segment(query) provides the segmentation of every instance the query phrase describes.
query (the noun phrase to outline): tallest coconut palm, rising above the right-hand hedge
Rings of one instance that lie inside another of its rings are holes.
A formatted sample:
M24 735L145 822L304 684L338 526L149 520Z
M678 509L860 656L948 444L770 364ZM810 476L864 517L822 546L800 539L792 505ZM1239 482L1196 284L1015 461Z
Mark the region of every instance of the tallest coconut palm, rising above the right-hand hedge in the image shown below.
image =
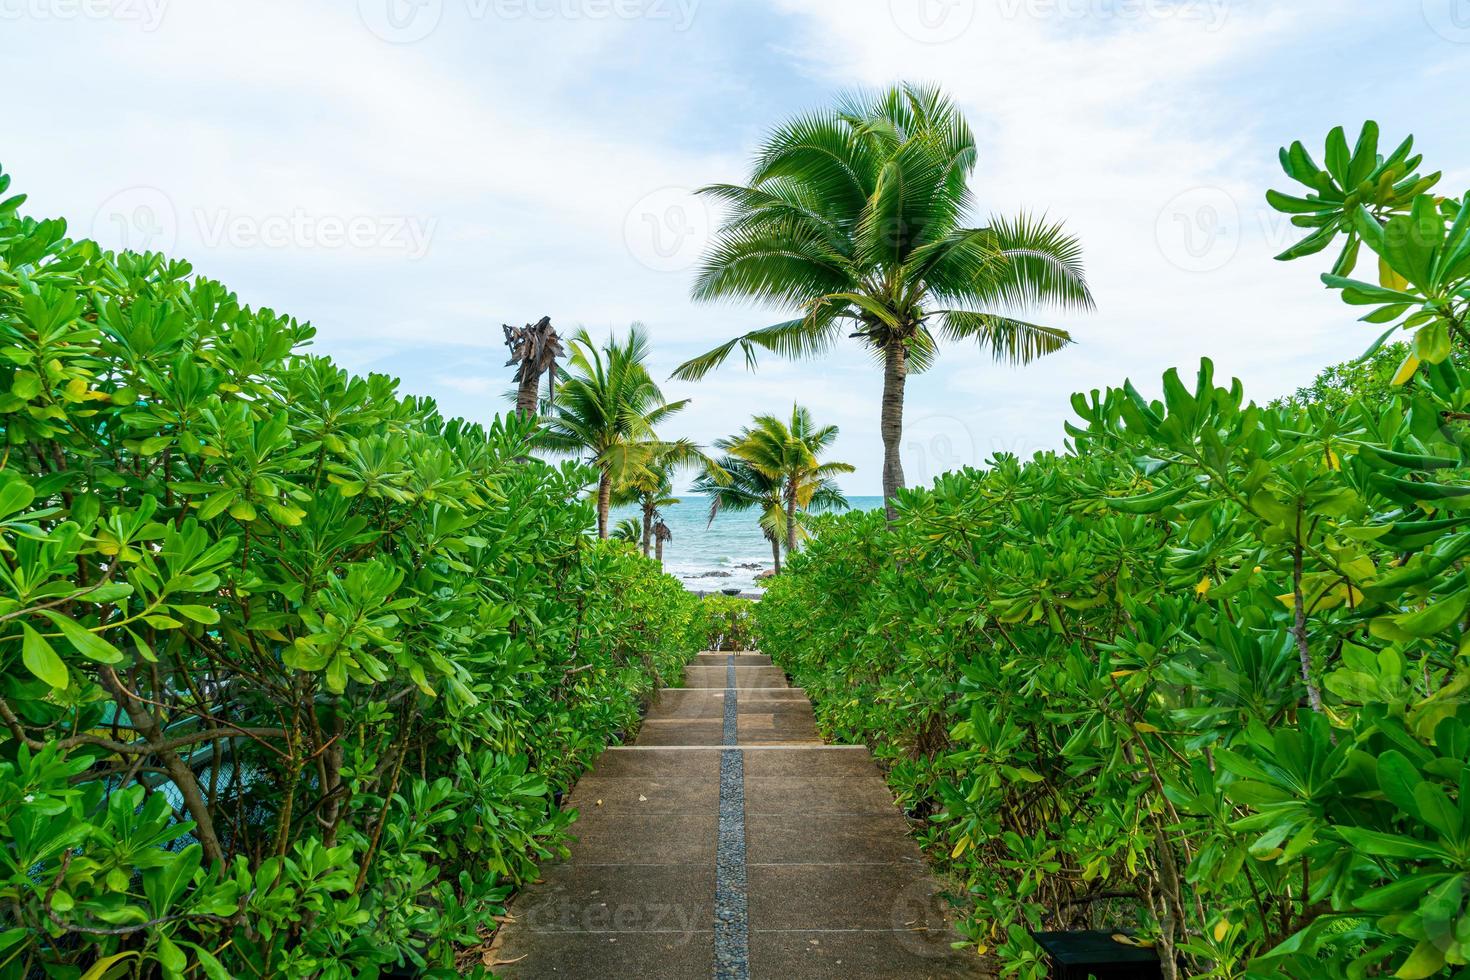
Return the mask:
M701 192L728 206L694 285L800 311L681 364L698 379L736 348L786 357L831 351L844 334L883 364L883 497L904 485L904 386L939 339L973 341L1023 364L1072 342L1026 309L1089 309L1080 247L1060 225L1022 215L972 225L975 137L936 88L901 85L797 118L761 145L747 184Z

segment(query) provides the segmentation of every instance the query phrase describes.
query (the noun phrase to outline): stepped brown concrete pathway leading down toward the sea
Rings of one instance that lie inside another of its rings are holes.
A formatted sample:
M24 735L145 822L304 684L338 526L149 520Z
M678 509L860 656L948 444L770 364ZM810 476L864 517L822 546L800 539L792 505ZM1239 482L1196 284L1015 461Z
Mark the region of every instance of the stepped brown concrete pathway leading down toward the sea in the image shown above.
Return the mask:
M760 654L700 654L567 799L495 948L504 977L975 977L863 746L823 745Z

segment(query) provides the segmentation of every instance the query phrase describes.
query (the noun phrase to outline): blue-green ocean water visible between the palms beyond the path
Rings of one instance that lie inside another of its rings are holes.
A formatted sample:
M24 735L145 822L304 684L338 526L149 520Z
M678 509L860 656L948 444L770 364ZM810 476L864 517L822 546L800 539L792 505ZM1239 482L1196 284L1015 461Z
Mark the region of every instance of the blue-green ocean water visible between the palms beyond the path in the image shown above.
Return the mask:
M882 497L848 497L853 510L883 505ZM637 507L614 507L613 525L637 517ZM694 592L720 589L759 591L756 576L775 567L770 542L761 535L756 511L720 511L713 525L706 497L681 495L679 502L663 508L663 520L673 541L663 545L663 567Z

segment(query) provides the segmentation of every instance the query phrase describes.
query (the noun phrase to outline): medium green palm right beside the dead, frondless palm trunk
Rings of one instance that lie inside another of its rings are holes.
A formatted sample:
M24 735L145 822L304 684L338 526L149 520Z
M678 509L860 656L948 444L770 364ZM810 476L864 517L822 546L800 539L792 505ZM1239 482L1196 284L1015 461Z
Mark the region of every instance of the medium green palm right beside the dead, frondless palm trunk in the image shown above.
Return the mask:
M541 445L585 453L597 467L597 536L607 536L613 488L629 480L669 444L656 426L689 401L667 401L648 373L648 335L634 323L628 336L598 345L584 329L570 341L560 372L556 406L541 430Z

